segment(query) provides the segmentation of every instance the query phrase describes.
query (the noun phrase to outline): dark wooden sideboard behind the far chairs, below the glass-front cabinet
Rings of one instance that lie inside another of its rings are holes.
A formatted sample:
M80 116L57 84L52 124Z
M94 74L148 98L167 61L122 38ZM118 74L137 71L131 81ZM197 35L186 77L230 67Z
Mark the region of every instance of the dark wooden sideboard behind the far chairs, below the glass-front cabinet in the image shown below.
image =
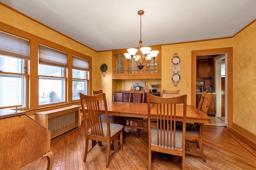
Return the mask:
M147 102L147 94L152 94L154 96L160 96L160 92L156 92L156 93L145 93L144 96L144 103ZM129 102L129 97L130 97L130 91L119 91L119 92L114 92L114 97L113 100L114 102ZM133 101L133 96L131 96L131 102ZM141 102L142 102L142 98L141 98Z

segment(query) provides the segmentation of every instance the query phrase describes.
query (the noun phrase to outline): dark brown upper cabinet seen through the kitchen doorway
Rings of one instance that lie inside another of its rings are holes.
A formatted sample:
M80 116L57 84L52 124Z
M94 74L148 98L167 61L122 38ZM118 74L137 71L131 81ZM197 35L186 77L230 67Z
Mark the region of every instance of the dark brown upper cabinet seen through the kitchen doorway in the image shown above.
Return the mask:
M212 59L200 59L197 60L197 77L199 78L212 78Z

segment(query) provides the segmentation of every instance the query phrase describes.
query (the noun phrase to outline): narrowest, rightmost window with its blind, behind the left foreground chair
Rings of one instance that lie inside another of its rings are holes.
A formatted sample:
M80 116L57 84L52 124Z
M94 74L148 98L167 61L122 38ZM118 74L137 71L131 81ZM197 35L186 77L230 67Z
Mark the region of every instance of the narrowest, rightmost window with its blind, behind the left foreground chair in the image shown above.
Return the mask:
M79 93L88 94L89 61L72 56L72 100L79 100Z

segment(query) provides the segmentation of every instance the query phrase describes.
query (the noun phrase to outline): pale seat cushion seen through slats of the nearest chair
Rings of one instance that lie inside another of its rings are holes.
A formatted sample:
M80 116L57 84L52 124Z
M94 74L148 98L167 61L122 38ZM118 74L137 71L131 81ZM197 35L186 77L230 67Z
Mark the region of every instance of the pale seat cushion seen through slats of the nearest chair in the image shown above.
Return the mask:
M162 131L163 134L164 131ZM158 131L160 137L160 131ZM167 130L165 130L165 136L167 137ZM170 130L168 131L170 138ZM182 149L182 131L176 131L175 133L175 147ZM157 129L151 128L151 143L157 145ZM159 139L160 144L160 139ZM165 139L165 145L167 144L167 139ZM162 140L162 145L164 145L164 141ZM170 139L168 140L168 147L170 147ZM173 147L173 131L172 131L172 147Z

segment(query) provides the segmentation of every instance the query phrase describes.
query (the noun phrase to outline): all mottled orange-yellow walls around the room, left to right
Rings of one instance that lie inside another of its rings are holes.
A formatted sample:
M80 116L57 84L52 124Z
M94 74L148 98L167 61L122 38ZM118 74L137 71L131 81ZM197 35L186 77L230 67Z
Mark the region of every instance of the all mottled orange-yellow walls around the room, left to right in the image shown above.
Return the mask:
M30 20L23 15L20 15L5 6L0 5L0 21L6 23L15 28L24 30L31 34L37 35L44 39L50 39L50 41L60 44L64 47L68 47L75 51L78 51L84 55L92 57L92 89L104 90L107 95L107 100L112 101L112 94L114 91L130 90L132 81L139 80L112 80L112 52L96 52L90 48L67 38L66 36L56 33L52 29L49 29L39 23ZM252 23L249 27L244 29L241 33L233 38L199 41L192 43L180 43L162 46L162 79L145 80L146 84L159 83L160 89L177 90L179 89L182 94L188 95L188 104L191 103L191 63L192 63L192 51L204 50L204 49L217 49L233 47L233 74L234 88L231 91L234 92L233 110L234 120L233 123L238 128L244 129L252 137L256 136L256 22ZM180 83L178 87L174 87L172 84L172 63L171 59L173 53L178 53L180 57ZM100 65L106 63L108 70L106 71L106 77L102 77L100 72ZM143 81L143 80L140 80ZM186 83L189 87L186 87ZM150 87L150 86L149 86ZM232 113L233 114L233 113ZM239 131L239 129L238 129ZM254 138L255 139L255 138Z

